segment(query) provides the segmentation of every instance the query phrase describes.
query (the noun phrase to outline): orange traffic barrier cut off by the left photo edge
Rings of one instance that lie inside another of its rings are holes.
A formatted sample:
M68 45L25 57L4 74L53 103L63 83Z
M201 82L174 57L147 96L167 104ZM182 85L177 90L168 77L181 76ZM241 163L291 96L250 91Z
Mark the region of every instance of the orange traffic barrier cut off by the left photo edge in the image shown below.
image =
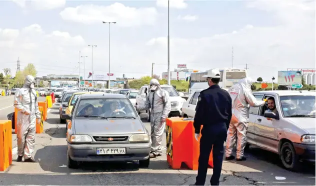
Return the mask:
M12 121L0 120L0 171L12 164Z

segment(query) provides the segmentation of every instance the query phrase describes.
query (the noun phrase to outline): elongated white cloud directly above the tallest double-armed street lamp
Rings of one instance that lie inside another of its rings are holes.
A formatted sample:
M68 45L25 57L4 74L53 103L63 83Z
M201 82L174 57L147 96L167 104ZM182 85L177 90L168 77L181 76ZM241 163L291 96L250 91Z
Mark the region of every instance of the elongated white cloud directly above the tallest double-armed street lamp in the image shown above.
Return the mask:
M64 20L82 23L98 23L116 21L118 26L139 26L154 24L157 11L154 7L129 7L115 2L108 6L94 4L66 7L60 13Z

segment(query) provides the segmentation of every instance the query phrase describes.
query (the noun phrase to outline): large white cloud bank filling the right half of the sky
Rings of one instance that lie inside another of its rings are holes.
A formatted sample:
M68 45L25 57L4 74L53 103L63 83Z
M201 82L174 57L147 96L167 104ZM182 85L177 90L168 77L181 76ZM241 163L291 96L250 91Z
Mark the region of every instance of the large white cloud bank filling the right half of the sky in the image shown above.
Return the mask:
M204 70L231 67L233 46L234 67L243 68L248 63L253 78L260 74L270 79L277 76L277 70L286 68L315 67L314 3L264 0L247 2L247 7L270 11L280 24L245 25L239 30L202 38L171 37L171 64L187 63L189 68ZM156 60L166 58L166 37L152 38L146 44L157 53Z

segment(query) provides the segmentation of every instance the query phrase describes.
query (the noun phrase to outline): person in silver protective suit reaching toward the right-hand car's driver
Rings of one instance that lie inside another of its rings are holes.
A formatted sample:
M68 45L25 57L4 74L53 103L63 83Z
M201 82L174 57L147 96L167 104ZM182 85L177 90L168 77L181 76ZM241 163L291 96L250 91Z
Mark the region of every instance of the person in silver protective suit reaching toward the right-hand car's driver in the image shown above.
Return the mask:
M227 130L225 159L231 160L235 157L232 155L232 148L237 137L236 160L246 160L243 156L243 150L246 145L246 132L249 119L249 107L258 107L264 105L264 100L256 100L252 95L250 77L244 77L228 89L232 99L231 112L232 117Z

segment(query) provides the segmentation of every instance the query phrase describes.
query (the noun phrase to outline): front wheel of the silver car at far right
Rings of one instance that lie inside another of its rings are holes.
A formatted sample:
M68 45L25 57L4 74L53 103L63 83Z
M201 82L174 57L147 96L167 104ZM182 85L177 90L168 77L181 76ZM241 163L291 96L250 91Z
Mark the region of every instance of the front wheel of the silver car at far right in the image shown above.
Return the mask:
M298 156L290 142L284 142L281 146L279 156L283 166L286 169L296 171L299 167Z

